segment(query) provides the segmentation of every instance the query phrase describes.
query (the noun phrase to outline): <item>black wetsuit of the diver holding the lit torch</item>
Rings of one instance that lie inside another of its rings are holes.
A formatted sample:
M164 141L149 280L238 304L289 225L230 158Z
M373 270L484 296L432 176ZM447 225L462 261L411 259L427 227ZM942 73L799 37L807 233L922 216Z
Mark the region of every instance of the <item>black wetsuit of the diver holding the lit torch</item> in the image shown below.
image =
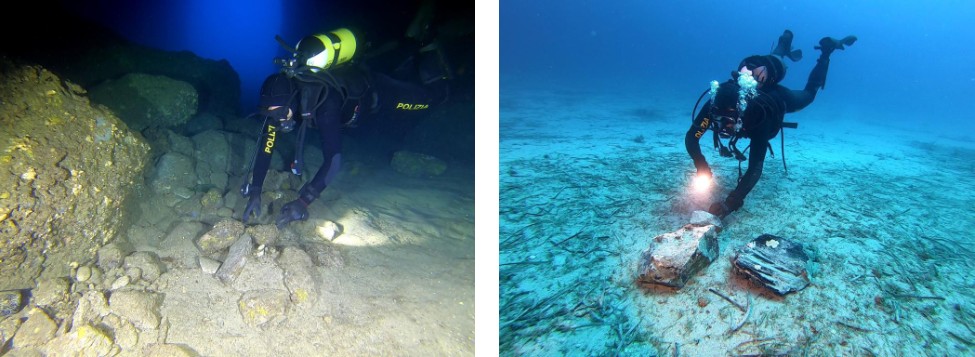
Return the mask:
M728 194L724 201L725 207L721 209L723 212L719 215L723 216L735 211L744 204L745 196L751 192L762 176L762 166L765 163L765 153L769 150L769 140L774 138L782 127L785 113L798 111L812 103L816 98L816 92L826 83L828 68L829 56L820 56L803 90L791 90L780 84L757 89L758 95L748 102L748 107L742 115L743 132L740 136L751 139L748 150L748 170L741 177L738 186ZM694 118L694 122L684 136L687 153L694 160L698 172L710 173L710 167L701 154L698 142L711 126L710 123L713 121L711 112L711 101L708 101Z

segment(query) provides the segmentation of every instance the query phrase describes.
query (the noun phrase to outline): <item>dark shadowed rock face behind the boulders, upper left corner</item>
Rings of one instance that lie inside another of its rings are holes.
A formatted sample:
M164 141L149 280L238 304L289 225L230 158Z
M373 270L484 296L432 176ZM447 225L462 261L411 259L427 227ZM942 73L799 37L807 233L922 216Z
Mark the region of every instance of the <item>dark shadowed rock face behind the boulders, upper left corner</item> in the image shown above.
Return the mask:
M24 31L12 23L0 24L5 33L14 34L0 47L0 54L44 66L86 89L130 73L165 76L196 89L200 112L219 117L240 114L240 77L226 60L140 46L56 5L29 6L38 8L50 26ZM66 33L66 29L70 30Z

